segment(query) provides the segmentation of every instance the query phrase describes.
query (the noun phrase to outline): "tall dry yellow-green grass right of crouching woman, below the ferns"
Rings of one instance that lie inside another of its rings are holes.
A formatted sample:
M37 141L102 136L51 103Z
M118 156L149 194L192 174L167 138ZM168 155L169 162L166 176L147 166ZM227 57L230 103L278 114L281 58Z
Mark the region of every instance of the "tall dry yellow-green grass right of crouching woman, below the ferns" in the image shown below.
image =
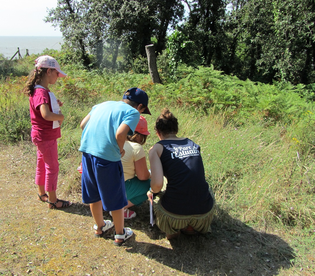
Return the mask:
M235 127L219 114L172 112L180 135L201 146L206 179L223 209L248 223L314 227L314 150L303 153L292 139L295 127L261 122Z

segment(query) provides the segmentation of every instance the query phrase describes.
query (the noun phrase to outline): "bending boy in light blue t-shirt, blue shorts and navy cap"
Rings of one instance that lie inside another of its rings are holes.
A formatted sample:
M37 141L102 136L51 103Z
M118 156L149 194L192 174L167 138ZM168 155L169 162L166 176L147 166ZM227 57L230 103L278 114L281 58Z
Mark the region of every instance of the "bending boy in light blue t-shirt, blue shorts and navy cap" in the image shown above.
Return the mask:
M93 106L82 120L82 201L90 204L95 220L95 237L103 237L114 226L114 244L121 246L133 235L124 228L124 207L128 204L121 157L127 135L132 135L140 114L150 114L146 92L134 87L121 101ZM113 223L103 219L103 209L111 211ZM105 224L105 225L104 225Z

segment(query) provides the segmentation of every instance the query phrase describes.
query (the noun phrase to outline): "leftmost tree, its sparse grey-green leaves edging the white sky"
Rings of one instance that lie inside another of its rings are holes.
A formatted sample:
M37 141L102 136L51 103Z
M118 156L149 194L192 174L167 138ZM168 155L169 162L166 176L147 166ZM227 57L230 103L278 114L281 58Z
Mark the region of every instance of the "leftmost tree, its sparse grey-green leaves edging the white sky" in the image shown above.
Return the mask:
M45 21L60 26L64 47L73 51L86 67L91 63L88 52L101 61L107 28L106 21L101 19L106 18L108 10L102 9L102 3L89 0L58 0L57 4L56 8L49 10Z

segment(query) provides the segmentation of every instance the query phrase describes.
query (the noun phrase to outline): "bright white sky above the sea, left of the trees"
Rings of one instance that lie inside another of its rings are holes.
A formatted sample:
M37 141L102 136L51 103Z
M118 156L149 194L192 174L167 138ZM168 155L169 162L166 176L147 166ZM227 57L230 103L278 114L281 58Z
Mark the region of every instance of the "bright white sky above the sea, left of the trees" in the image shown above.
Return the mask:
M47 8L57 7L57 0L1 1L0 36L59 36L51 23L45 23Z

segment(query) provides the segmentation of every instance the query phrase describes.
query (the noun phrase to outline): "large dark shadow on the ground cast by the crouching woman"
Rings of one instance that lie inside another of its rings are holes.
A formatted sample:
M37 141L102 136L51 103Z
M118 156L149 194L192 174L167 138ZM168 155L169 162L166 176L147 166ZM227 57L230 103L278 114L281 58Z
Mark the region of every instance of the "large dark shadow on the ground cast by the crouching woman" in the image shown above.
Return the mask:
M155 244L135 242L127 251L190 275L277 275L281 268L291 266L290 260L295 256L284 240L257 232L224 210L218 210L218 214L212 233L181 234L167 241L161 239L165 235L154 226L147 234L156 239Z

